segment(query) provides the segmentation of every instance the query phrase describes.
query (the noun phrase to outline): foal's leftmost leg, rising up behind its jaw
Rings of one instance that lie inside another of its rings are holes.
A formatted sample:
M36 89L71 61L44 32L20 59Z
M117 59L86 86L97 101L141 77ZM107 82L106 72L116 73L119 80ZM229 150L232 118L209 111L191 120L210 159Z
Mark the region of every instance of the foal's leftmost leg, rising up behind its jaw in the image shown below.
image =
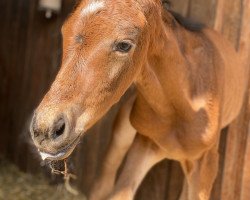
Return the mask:
M101 173L91 189L90 200L103 200L112 191L116 173L122 160L131 146L136 130L129 121L130 112L135 100L131 96L120 108L116 117L110 145L104 158Z

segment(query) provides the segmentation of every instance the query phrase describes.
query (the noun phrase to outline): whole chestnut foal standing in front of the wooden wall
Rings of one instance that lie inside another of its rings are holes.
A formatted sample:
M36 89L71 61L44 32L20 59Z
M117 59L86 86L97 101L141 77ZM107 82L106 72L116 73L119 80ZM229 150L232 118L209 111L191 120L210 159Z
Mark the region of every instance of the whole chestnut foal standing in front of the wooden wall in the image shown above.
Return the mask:
M163 5L84 0L62 26L61 68L30 128L43 159L67 158L135 88L116 117L91 200L132 200L149 169L166 158L185 175L179 199L210 197L220 131L240 112L248 73L216 31L185 23Z

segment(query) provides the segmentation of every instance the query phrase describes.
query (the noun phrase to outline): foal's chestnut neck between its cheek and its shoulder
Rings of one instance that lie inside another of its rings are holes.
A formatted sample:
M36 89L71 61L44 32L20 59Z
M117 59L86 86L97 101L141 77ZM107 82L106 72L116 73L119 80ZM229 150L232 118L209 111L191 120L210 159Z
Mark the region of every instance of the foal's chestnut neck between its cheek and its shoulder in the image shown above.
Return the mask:
M185 73L187 67L175 32L169 30L169 27L165 28L164 23L157 23L157 25L155 27L158 30L154 32L158 35L153 37L154 41L151 42L148 59L136 85L150 107L165 115L171 112L173 102L176 107L188 109L187 102L183 98L187 95L188 83ZM185 106L187 108L184 108Z

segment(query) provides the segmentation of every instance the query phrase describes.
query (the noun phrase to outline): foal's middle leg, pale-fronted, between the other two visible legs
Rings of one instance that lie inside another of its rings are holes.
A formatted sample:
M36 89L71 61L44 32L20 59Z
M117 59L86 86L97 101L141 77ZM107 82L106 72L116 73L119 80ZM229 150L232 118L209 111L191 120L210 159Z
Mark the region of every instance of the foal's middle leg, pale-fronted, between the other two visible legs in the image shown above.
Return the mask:
M164 159L163 152L150 139L137 134L108 200L132 200L148 170Z

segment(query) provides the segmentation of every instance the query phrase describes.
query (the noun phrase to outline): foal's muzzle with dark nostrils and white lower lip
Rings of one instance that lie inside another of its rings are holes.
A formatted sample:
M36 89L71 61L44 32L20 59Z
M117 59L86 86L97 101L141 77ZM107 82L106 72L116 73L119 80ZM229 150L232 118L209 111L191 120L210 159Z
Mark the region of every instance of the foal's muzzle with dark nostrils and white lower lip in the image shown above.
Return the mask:
M75 146L75 136L67 116L48 113L34 114L30 132L35 146L43 159L60 159ZM56 117L55 117L56 116ZM54 119L54 120L53 120Z

